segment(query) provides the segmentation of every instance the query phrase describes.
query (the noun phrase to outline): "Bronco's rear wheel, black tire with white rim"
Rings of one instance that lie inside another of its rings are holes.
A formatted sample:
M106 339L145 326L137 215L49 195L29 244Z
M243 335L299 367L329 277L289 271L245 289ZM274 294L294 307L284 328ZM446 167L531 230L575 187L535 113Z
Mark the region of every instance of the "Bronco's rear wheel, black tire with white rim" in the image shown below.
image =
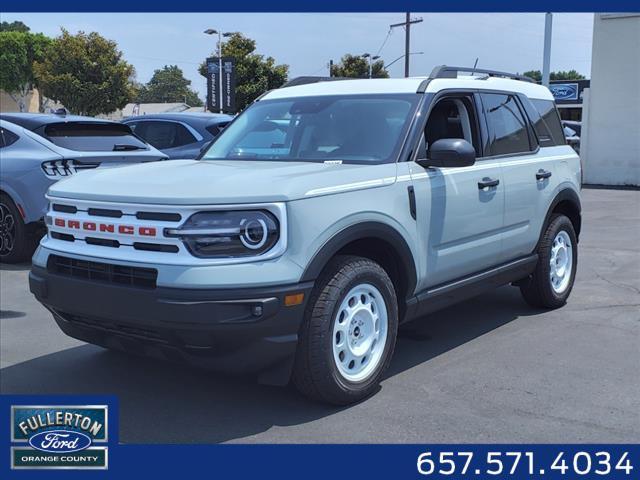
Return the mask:
M520 292L532 307L559 308L567 303L578 266L578 239L569 218L551 217L537 253L536 269Z

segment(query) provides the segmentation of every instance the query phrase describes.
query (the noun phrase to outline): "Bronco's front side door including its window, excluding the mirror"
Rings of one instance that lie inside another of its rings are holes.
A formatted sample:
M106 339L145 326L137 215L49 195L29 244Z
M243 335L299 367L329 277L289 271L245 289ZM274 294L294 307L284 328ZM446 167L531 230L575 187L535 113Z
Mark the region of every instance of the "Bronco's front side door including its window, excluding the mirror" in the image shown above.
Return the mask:
M473 93L447 94L434 101L423 137L424 155L436 140L464 138L474 145L477 160L458 168L411 165L426 261L419 289L494 267L502 240L504 183L500 160L483 156L478 101Z

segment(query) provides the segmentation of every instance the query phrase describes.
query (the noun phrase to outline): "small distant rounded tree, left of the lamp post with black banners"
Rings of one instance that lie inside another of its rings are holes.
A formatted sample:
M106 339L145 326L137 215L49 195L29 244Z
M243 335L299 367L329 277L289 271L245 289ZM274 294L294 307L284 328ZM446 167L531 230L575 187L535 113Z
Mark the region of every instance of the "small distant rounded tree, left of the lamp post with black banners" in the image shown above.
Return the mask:
M184 78L177 65L165 65L153 72L149 83L143 85L136 97L140 103L184 102L192 107L201 107L202 100L189 88L191 80Z

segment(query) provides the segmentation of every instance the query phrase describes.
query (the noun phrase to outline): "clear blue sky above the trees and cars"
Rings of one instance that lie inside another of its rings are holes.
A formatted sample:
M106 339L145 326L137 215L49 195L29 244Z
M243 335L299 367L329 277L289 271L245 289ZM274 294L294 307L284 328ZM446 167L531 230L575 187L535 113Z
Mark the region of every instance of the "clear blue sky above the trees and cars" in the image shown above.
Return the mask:
M404 30L389 25L404 13L2 13L21 20L33 32L57 36L96 31L115 40L124 58L146 83L154 70L178 65L204 100L206 82L197 72L215 48L207 28L238 31L257 41L258 53L289 65L289 78L328 75L330 59L345 53L379 54L385 64L404 53ZM511 72L542 70L542 13L412 13L423 22L411 28L411 75L428 75L436 65L473 66ZM590 77L593 14L553 17L551 70ZM404 74L404 61L389 67Z

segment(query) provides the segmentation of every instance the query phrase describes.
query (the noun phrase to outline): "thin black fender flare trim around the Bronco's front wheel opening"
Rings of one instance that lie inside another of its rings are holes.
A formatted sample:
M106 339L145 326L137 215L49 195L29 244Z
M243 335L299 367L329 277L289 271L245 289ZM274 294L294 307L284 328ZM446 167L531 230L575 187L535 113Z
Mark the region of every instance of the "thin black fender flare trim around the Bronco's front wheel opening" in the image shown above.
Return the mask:
M413 295L417 274L411 249L404 237L395 228L382 222L356 223L338 232L316 252L305 268L300 281L308 282L317 279L336 253L349 243L366 238L382 240L393 248L402 263L400 267L407 275L407 295Z

